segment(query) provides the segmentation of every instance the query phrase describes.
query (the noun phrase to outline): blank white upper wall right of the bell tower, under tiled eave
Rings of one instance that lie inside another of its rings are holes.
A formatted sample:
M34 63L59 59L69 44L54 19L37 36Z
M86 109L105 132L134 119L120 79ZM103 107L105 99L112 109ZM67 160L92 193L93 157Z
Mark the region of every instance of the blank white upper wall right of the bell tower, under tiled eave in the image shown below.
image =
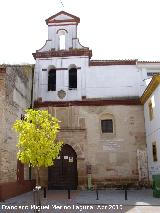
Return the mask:
M88 98L140 95L140 73L135 65L93 66L86 75Z

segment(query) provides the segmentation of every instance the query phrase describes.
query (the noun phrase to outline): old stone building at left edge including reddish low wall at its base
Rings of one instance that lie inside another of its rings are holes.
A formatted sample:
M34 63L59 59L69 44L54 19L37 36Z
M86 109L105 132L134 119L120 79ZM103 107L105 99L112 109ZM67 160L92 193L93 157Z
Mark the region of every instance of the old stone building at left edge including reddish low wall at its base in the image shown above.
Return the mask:
M0 66L0 200L26 190L33 183L28 168L17 161L17 135L12 130L16 119L31 107L32 65Z

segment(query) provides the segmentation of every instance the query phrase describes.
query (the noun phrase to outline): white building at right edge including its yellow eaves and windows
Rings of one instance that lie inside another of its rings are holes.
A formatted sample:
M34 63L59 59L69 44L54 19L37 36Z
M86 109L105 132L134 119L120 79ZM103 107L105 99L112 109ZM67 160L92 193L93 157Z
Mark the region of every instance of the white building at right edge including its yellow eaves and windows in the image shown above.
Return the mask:
M150 180L152 180L153 174L160 174L159 100L160 100L160 76L155 75L141 97L141 101L144 104L148 169Z

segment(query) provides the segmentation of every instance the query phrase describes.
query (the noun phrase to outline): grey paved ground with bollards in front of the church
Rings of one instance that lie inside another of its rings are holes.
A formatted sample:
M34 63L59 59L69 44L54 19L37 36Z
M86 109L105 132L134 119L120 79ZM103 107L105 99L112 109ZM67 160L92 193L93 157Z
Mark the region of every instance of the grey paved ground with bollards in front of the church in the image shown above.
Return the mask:
M0 202L0 213L33 213L36 207L29 192ZM42 198L41 213L50 212L160 213L160 198L153 198L150 189L128 190L127 200L123 190L100 190L98 199L95 191L71 191L68 199L67 191L50 190Z

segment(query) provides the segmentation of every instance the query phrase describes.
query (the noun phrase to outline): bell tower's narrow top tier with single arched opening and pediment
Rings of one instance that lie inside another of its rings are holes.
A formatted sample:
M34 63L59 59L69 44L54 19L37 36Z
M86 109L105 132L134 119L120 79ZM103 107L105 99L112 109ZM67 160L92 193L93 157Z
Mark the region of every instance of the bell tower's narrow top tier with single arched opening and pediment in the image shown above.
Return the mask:
M80 18L71 15L65 11L61 11L48 19L48 40L45 45L36 52L44 51L60 51L88 48L82 46L77 38L77 25ZM91 54L91 53L90 53ZM34 57L36 56L33 54Z

